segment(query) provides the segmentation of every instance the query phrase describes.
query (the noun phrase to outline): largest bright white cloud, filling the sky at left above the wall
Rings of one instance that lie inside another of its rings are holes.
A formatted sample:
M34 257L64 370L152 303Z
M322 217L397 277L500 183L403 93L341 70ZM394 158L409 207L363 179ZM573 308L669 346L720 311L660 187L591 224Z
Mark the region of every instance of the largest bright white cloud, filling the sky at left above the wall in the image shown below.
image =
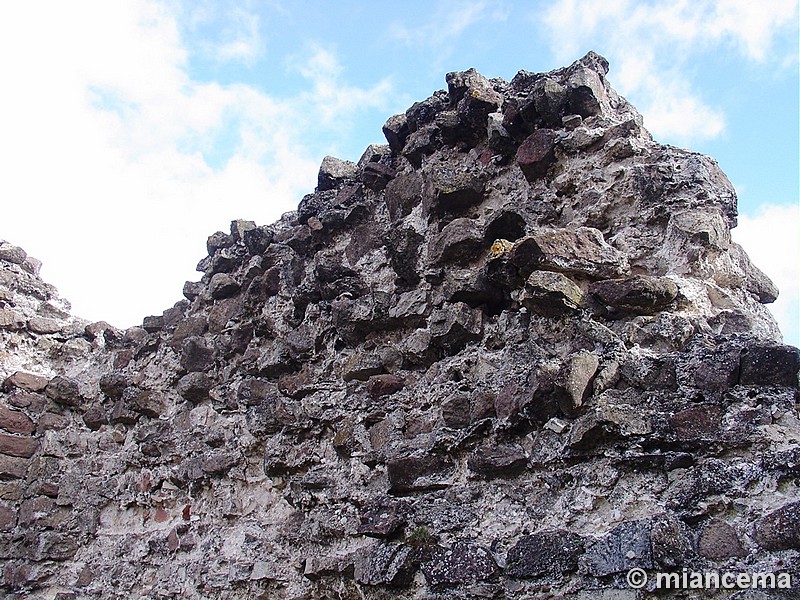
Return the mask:
M294 97L194 81L173 10L0 8L0 235L44 261L76 314L120 326L181 299L208 234L296 207L324 154L315 134L390 91L347 84L331 52Z

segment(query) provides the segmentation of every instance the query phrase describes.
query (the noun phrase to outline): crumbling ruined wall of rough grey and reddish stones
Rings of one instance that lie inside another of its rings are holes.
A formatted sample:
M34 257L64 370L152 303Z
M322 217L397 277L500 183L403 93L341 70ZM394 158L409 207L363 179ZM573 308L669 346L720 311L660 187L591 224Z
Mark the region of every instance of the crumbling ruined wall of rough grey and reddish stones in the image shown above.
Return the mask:
M653 141L607 69L448 74L388 145L327 157L297 211L210 236L200 281L141 327L72 317L0 244L2 590L800 585L777 290L730 239L717 164Z

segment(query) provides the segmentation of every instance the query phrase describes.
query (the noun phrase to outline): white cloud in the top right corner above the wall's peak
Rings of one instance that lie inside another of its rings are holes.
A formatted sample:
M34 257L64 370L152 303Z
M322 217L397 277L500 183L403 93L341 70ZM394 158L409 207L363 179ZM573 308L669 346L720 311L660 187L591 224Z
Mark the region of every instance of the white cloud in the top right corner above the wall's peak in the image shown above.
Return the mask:
M765 60L775 37L796 28L797 2L561 0L531 18L546 26L559 60L589 49L605 54L617 89L634 100L645 126L656 137L689 143L725 128L721 110L687 83L692 57L728 45L748 60Z

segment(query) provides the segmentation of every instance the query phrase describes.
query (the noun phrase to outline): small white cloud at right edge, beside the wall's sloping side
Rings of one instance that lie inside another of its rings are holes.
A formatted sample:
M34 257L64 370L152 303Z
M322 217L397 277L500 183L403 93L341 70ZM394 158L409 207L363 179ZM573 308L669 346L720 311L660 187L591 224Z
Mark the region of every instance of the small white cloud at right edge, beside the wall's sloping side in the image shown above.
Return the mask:
M755 215L740 215L731 233L778 286L780 295L769 308L784 340L800 345L800 207L764 205Z

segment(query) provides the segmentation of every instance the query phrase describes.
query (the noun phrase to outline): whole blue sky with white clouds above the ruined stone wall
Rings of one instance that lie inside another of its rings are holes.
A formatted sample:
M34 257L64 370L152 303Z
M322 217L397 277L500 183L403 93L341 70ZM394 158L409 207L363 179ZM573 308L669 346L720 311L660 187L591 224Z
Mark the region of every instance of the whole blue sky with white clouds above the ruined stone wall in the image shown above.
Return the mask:
M137 324L199 279L209 234L294 209L446 72L588 50L656 139L720 162L800 344L797 0L9 0L0 239L76 314Z

